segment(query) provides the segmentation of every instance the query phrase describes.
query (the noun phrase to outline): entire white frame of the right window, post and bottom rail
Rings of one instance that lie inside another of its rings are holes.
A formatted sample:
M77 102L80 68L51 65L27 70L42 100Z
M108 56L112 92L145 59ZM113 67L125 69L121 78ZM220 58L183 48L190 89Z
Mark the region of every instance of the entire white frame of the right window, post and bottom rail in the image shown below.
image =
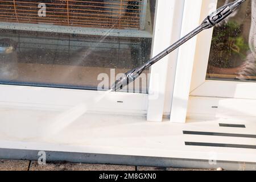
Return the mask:
M185 0L182 34L199 26L216 7L217 0ZM191 117L252 120L256 116L255 82L206 80L212 33L213 28L204 30L180 48L171 122L185 123Z

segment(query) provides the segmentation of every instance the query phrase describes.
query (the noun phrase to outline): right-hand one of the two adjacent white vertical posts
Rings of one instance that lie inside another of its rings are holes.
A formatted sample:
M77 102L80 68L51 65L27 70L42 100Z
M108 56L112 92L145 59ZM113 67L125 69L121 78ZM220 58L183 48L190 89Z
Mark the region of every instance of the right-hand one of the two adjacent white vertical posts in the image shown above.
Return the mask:
M199 26L204 0L185 0L181 36ZM170 121L185 123L197 36L179 48Z

